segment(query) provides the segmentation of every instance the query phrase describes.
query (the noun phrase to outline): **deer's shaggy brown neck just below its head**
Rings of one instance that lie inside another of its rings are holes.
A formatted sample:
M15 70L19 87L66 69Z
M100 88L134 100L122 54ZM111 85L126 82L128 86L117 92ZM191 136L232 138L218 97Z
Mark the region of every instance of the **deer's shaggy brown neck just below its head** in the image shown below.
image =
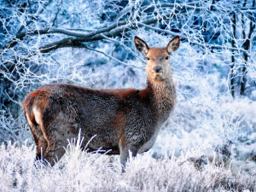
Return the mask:
M152 93L151 101L155 112L165 121L176 103L176 89L172 76L164 81L148 78L148 89Z

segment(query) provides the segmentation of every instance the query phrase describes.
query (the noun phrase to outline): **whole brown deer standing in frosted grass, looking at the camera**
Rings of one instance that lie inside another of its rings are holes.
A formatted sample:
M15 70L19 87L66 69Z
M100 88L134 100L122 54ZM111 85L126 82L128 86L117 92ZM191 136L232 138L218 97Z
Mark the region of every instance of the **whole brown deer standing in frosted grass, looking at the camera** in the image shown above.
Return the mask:
M79 131L84 137L82 147L87 143L89 152L102 148L119 154L122 172L129 153L135 157L152 148L176 104L170 55L179 47L180 38L172 38L163 48L149 48L135 36L134 44L147 60L143 90L93 90L55 83L26 96L22 106L37 146L36 160L54 166L65 154L68 139Z

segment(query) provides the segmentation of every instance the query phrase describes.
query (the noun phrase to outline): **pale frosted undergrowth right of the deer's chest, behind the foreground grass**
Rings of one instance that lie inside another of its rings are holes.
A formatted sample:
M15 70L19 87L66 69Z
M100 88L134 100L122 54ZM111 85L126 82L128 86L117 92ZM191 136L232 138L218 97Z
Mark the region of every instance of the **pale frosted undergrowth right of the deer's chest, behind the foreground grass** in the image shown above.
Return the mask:
M205 103L177 103L152 148L154 156L174 150L178 157L196 150L212 160L215 153L216 161L231 172L256 176L256 102L222 97Z

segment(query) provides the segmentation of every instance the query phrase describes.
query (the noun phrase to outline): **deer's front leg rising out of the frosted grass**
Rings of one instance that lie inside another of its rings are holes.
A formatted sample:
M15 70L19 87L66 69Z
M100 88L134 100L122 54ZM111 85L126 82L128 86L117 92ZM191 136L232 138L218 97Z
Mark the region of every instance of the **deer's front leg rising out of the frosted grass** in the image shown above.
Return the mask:
M129 159L129 151L131 151L132 157L137 155L139 145L136 143L129 143L126 141L125 136L122 136L119 140L119 151L120 151L120 163L122 166L122 172L125 172L125 165Z

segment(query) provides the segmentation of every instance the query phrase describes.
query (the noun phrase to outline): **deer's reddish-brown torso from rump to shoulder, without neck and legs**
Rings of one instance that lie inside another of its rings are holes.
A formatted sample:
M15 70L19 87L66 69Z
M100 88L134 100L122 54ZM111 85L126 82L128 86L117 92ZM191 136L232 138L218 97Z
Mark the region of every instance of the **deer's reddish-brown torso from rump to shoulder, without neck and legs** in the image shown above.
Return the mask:
M96 135L91 149L111 148L112 154L119 154L122 135L145 143L154 135L152 126L156 125L148 90L90 90L49 84L30 93L23 107L27 118L33 124L43 123L46 131L61 134L60 129L67 131L68 126L77 135L81 129L84 143Z

